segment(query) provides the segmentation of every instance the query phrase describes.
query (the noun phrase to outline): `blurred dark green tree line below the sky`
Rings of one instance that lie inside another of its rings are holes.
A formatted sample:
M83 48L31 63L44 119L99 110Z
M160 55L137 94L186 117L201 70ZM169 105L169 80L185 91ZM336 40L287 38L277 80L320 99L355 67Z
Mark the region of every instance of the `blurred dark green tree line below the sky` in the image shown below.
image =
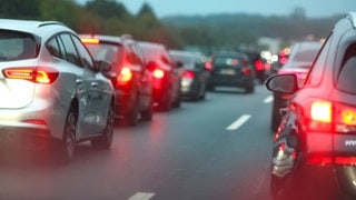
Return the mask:
M325 38L340 18L308 19L300 8L290 16L215 14L167 17L158 19L148 3L130 13L116 0L0 0L0 18L57 20L79 33L131 34L138 40L160 42L168 48L256 47L260 37L284 41L306 37Z

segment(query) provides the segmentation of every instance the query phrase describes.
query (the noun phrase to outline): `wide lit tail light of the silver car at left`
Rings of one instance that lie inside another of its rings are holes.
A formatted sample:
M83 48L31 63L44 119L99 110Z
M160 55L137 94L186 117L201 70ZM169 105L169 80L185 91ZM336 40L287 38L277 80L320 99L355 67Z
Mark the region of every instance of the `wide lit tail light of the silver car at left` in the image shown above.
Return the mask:
M8 79L23 79L43 84L55 82L59 76L57 70L50 68L9 68L2 72Z

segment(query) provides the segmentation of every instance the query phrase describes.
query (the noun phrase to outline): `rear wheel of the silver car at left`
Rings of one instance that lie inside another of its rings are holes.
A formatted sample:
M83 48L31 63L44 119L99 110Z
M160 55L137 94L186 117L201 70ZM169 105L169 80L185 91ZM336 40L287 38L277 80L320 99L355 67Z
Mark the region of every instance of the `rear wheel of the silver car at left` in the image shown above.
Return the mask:
M69 163L75 156L76 132L77 132L78 113L76 107L71 106L66 118L63 139L59 147L60 162Z

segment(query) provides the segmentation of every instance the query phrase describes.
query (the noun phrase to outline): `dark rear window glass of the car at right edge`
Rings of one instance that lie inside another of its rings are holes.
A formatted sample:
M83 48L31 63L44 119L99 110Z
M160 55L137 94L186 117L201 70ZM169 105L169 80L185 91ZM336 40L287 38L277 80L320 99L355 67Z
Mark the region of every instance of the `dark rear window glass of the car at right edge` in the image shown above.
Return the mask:
M343 59L343 66L337 79L336 88L346 92L356 93L356 43L350 46Z

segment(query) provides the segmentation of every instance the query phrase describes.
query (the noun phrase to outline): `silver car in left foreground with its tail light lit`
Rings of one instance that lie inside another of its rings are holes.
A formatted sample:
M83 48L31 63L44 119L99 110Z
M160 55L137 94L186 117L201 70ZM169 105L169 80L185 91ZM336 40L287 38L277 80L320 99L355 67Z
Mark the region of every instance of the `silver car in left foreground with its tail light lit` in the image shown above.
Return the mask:
M110 68L60 22L0 20L0 147L56 150L66 163L79 141L110 148Z

